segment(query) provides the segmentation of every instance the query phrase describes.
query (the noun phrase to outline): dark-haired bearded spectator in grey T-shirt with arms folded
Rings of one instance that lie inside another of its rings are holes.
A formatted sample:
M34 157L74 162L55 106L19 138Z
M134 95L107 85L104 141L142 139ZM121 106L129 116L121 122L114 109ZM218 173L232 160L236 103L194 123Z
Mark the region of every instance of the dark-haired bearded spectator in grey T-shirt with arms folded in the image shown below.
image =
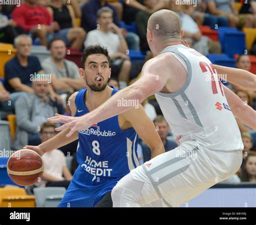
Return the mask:
M53 38L49 44L51 56L42 62L45 73L51 74L51 85L57 93L63 94L85 88L79 75L79 68L66 60L66 45L61 38Z

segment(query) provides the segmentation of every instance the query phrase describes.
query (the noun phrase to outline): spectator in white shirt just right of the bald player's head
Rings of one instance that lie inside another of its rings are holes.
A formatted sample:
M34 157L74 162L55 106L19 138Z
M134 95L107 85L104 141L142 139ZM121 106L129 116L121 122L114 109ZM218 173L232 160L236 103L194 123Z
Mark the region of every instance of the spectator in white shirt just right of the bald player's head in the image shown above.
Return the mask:
M221 53L221 46L218 41L212 41L206 36L202 36L201 31L193 18L183 12L183 6L177 5L175 0L171 0L169 8L176 12L180 18L181 28L184 30L184 36L188 45L203 55L208 53Z

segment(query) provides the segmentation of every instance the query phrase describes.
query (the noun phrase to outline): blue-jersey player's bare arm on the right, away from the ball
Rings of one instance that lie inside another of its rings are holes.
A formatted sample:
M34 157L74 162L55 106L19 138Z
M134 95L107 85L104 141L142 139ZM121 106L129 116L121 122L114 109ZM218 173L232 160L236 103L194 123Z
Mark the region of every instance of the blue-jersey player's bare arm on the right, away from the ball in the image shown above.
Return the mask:
M164 145L151 119L139 104L138 107L123 112L121 116L132 125L133 129L142 138L143 142L151 149L151 158L164 153Z

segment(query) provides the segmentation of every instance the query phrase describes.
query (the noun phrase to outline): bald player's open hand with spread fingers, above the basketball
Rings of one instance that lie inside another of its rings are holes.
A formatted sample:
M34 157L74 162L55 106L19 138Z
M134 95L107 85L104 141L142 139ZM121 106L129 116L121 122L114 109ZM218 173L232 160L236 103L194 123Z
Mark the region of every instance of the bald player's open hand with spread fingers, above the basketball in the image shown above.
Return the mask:
M70 137L77 130L86 130L90 127L91 124L88 123L88 119L86 115L84 116L63 116L59 114L55 114L55 116L47 119L51 123L64 123L62 126L55 128L56 131L61 131L66 128L70 129L70 132L66 135L66 137Z

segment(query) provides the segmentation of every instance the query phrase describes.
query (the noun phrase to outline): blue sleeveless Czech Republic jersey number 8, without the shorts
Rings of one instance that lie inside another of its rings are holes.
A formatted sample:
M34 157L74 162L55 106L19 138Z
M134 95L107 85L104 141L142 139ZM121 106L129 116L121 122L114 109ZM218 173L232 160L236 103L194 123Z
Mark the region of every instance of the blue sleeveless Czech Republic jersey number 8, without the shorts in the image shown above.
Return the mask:
M118 92L113 89L112 95ZM83 116L89 110L85 106L86 89L76 96L77 112ZM118 116L93 124L87 130L78 131L77 161L83 175L82 185L99 185L120 179L139 165L137 158L138 136L133 128L122 130Z

